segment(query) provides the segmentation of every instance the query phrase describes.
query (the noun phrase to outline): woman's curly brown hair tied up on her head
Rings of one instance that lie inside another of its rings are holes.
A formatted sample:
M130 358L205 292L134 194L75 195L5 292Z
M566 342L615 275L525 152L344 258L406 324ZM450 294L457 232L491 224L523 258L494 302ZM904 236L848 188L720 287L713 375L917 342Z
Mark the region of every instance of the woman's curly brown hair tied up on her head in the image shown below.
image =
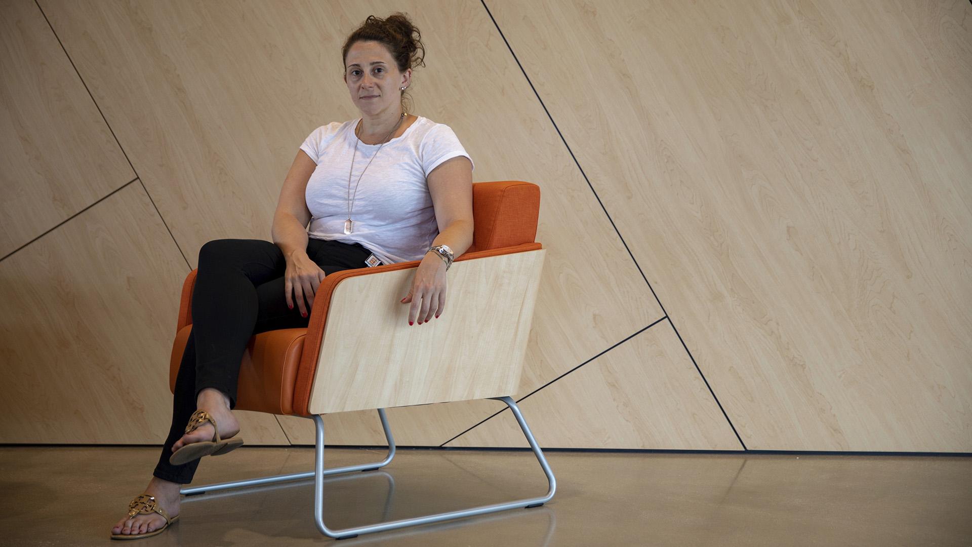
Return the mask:
M392 54L399 72L416 66L425 66L425 45L422 33L412 24L408 16L394 13L387 18L368 16L364 22L348 36L341 49L341 65L347 66L348 50L357 42L374 41L382 44ZM402 105L405 93L401 94Z

